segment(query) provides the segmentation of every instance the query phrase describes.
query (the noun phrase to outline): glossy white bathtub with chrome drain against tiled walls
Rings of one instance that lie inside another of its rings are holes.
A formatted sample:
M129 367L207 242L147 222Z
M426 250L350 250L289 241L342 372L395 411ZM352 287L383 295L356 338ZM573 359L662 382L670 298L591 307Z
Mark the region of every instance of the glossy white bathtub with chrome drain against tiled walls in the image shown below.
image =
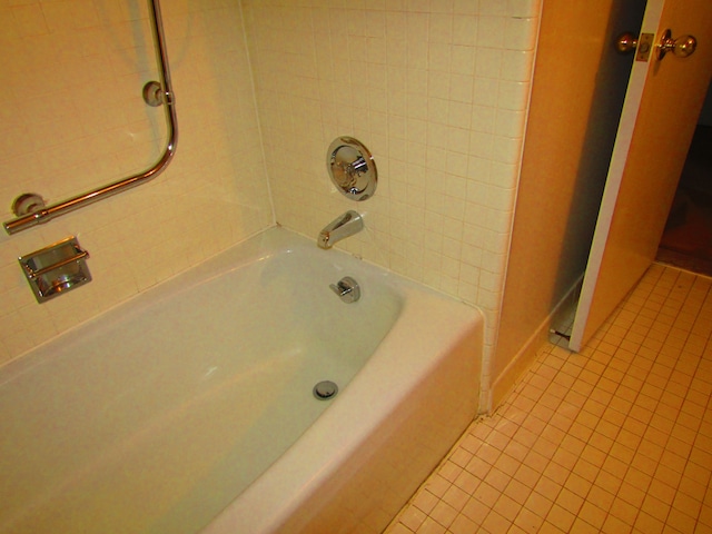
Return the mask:
M0 533L380 532L475 416L482 330L267 230L0 368Z

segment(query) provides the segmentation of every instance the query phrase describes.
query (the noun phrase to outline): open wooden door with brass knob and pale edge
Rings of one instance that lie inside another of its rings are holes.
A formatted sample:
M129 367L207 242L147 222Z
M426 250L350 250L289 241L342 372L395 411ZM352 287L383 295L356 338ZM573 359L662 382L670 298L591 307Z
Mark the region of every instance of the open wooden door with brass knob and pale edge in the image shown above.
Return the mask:
M641 33L692 34L693 55L635 61L570 348L580 350L655 258L712 75L712 2L649 0Z

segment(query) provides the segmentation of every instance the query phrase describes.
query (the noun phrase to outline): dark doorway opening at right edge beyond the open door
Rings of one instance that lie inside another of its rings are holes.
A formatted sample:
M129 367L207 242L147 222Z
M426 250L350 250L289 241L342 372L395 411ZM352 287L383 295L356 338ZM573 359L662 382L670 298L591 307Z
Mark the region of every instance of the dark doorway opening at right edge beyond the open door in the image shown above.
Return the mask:
M712 85L708 89L655 259L712 276Z

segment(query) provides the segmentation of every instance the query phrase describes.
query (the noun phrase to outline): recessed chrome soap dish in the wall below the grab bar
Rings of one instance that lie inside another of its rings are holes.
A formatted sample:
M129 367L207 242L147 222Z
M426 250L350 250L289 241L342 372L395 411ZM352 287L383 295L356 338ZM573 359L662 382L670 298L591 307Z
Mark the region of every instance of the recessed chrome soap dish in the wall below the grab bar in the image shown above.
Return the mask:
M91 281L87 258L89 253L82 249L72 236L18 260L34 298L42 304Z

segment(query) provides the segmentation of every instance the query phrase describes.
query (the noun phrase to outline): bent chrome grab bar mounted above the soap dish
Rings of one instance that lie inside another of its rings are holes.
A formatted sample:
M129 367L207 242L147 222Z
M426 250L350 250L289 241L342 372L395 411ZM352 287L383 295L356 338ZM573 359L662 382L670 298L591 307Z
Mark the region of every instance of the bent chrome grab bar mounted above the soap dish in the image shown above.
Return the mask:
M152 178L156 178L170 162L176 154L176 145L178 142L178 120L176 118L176 106L174 101L172 86L170 82L170 71L168 69L168 56L166 53L166 41L164 37L164 23L160 14L159 0L149 1L151 9L151 21L154 38L156 40L156 56L159 67L160 85L162 88L162 102L166 109L166 127L168 142L164 155L156 161L156 164L145 170L128 178L102 186L82 195L72 197L68 200L53 204L51 206L42 207L37 211L17 217L16 219L8 220L2 224L6 231L10 235L17 234L33 226L47 222L60 215L69 214L82 206L88 206L103 198L110 197L118 192L139 186Z

